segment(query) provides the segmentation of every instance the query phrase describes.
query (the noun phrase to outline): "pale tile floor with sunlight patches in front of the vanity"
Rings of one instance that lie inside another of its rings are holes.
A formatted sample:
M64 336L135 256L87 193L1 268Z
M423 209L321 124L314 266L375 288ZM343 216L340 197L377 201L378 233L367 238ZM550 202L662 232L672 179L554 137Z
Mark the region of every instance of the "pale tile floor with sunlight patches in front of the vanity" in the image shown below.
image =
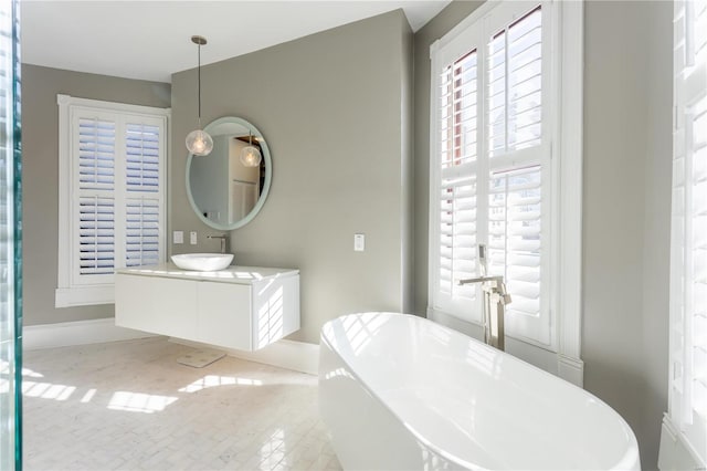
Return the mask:
M163 337L27 352L24 469L340 470L317 378Z

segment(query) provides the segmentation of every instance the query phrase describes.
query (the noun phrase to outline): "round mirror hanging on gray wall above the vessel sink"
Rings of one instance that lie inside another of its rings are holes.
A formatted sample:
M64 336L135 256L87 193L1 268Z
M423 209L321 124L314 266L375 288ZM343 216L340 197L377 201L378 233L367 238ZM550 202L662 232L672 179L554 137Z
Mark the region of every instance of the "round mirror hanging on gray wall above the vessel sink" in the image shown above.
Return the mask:
M213 138L213 150L187 158L189 202L205 224L238 229L255 218L267 198L273 175L267 144L255 126L234 116L219 118L204 130Z

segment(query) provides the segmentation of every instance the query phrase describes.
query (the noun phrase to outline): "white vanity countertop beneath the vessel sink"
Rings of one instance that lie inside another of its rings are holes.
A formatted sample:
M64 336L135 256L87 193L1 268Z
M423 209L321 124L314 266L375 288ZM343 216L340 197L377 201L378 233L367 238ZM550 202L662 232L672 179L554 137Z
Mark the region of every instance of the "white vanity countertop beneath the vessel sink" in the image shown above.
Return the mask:
M214 272L197 272L182 270L173 263L161 263L159 265L119 269L116 270L116 273L143 276L177 278L182 280L203 280L219 283L253 284L261 280L293 276L298 274L299 270L231 265Z

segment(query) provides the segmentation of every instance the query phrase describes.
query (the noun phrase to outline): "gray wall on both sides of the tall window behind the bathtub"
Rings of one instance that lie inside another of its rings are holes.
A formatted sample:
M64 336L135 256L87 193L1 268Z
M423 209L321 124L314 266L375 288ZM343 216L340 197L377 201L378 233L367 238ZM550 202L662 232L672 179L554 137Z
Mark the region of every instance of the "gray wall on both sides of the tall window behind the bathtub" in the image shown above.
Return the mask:
M415 34L415 311L428 304L430 44L477 3ZM672 3L588 1L584 13L584 387L657 465L667 408Z

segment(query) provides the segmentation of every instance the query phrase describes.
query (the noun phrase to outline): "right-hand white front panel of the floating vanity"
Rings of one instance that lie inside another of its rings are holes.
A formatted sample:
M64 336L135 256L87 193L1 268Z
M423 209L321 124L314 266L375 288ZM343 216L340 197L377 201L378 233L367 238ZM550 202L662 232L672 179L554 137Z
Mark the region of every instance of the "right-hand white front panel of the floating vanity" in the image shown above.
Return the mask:
M251 286L233 283L198 284L199 342L253 350Z

